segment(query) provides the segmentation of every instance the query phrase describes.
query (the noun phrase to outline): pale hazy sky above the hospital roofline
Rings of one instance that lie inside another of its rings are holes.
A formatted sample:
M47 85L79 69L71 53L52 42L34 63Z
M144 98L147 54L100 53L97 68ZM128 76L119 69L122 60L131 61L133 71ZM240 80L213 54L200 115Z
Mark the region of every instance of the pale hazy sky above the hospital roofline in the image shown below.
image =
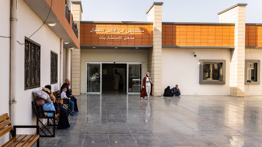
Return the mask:
M219 22L217 13L246 3L246 23L262 23L262 0L81 0L82 21L146 21L153 2L163 2L162 22Z

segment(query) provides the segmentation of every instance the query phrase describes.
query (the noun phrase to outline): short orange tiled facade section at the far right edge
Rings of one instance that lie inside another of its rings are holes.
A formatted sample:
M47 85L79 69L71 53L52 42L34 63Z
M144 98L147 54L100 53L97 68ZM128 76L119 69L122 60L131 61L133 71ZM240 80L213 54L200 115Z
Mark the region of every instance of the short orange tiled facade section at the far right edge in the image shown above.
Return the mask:
M262 46L262 26L246 25L245 26L245 46L261 47Z

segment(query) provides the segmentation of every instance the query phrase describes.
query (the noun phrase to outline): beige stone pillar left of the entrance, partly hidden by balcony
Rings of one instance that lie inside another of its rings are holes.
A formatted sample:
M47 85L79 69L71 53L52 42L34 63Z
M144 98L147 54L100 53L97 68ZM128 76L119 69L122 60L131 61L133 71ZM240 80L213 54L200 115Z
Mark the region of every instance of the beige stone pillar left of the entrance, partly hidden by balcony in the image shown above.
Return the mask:
M80 21L82 20L81 1L72 2L72 14L74 23L77 24L78 40L80 41ZM72 79L71 89L74 95L80 95L81 91L81 49L72 49Z

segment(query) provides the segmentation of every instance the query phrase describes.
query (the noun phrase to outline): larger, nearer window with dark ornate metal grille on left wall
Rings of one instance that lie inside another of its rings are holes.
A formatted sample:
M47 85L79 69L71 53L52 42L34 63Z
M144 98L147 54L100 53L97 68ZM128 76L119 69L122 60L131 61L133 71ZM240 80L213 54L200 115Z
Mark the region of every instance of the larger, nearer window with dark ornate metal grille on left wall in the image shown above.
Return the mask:
M40 87L41 45L25 37L25 90Z

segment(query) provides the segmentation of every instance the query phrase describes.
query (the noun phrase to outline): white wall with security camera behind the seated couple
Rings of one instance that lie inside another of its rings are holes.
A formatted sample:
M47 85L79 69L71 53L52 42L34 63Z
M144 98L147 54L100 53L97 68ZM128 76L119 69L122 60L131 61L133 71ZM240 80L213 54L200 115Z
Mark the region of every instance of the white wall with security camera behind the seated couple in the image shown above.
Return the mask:
M226 84L199 84L200 59L226 60ZM230 49L162 48L162 95L176 84L181 95L230 95Z

